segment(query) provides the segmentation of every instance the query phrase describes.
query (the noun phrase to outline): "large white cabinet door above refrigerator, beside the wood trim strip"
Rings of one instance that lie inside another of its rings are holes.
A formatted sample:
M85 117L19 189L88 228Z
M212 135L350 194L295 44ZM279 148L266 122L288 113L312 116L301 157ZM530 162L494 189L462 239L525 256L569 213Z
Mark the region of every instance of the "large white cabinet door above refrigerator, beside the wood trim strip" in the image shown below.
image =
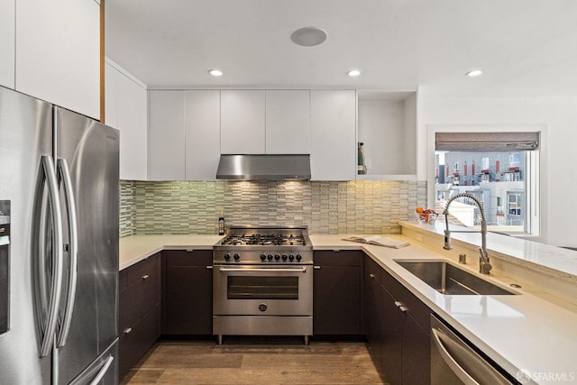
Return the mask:
M17 3L15 89L99 120L100 6L89 0Z

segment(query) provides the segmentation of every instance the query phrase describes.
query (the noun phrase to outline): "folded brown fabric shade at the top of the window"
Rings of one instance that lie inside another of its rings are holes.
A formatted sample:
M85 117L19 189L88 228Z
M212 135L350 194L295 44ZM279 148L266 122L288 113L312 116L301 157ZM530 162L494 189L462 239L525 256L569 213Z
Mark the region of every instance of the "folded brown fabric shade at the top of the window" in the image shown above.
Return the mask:
M437 151L532 151L539 133L435 133Z

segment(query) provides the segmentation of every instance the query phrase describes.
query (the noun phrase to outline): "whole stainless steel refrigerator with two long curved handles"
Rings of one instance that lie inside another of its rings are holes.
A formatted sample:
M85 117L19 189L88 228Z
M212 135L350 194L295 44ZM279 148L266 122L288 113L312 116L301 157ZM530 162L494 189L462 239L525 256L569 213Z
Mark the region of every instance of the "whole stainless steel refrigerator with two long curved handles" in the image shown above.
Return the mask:
M117 383L117 130L0 87L0 383Z

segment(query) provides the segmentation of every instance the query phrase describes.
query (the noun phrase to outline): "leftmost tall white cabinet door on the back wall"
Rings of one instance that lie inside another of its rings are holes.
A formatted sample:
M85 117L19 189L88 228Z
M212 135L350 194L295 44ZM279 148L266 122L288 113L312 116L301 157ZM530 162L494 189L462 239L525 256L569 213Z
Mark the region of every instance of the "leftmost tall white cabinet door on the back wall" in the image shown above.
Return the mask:
M183 91L149 93L149 179L185 179Z

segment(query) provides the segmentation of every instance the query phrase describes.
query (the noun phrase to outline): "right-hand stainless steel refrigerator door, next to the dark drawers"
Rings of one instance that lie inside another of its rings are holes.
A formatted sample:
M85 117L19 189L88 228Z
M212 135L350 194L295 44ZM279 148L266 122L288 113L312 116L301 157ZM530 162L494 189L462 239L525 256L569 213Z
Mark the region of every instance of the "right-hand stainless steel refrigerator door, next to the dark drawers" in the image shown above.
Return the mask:
M114 343L117 336L118 298L118 131L69 110L54 107L56 157L59 164L60 201L65 248L63 299L60 319L67 316L66 298L74 298L68 339L60 341L58 383L68 384L97 356ZM69 183L66 186L66 163ZM68 225L66 208L73 194L76 234ZM72 236L71 236L72 234ZM78 243L73 245L72 238ZM74 246L74 247L72 247ZM77 254L77 274L72 253ZM76 290L69 283L76 280ZM64 322L62 322L64 324ZM65 333L60 329L59 337Z

